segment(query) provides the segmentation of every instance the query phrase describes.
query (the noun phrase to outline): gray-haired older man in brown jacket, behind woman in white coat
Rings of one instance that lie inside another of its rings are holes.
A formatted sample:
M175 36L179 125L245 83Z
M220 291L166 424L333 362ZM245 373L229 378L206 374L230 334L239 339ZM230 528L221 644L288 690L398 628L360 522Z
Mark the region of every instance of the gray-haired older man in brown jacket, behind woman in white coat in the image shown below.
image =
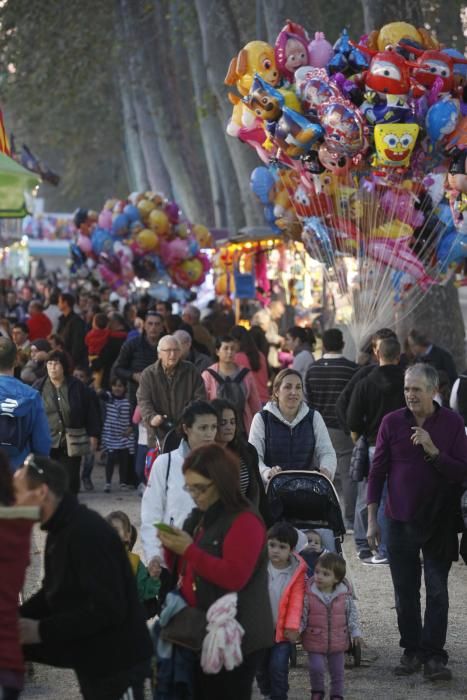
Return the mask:
M136 399L141 416L148 428L148 445L156 437L162 441L180 418L183 409L194 399L206 399L206 389L200 372L181 359L180 343L173 335L159 340L160 358L141 374Z

